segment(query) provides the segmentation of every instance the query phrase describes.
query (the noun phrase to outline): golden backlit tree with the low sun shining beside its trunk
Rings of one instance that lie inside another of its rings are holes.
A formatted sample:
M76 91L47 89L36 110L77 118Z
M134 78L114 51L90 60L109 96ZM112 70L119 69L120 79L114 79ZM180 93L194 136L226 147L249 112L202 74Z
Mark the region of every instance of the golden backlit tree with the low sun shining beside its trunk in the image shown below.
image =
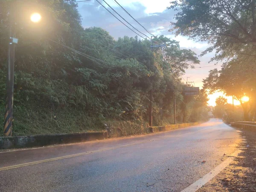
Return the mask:
M251 74L250 68L244 67L238 62L238 60L227 62L220 71L210 70L209 76L203 80L204 89L209 93L223 91L227 96L234 96L244 110L244 120L249 121L252 118L249 116L250 102L243 102L242 98L244 95L252 97L255 94L255 87L252 84L253 81L255 82L253 80L255 78L249 75Z

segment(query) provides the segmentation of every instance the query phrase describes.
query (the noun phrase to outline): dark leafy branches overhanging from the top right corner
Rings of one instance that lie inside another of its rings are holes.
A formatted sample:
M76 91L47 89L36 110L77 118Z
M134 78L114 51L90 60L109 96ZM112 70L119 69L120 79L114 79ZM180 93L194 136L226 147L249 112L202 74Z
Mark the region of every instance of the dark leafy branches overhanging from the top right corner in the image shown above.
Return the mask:
M171 30L176 35L207 41L212 46L203 54L215 49L212 60L251 55L256 45L255 8L256 0L175 0L169 7L177 11Z

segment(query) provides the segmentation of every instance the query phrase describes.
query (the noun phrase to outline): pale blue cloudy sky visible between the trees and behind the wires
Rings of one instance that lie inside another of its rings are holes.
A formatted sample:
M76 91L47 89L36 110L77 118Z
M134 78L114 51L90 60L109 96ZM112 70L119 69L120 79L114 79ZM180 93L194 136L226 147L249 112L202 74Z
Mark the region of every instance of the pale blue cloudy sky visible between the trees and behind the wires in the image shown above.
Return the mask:
M77 0L78 1L78 0ZM113 12L108 5L106 5L102 0L99 0L105 7ZM114 0L105 0L113 9L116 10L122 17L124 17L129 23L131 23L139 31L145 33L145 35L150 35L134 21L128 14L126 14L121 7ZM212 66L215 63L210 62L210 58L214 56L214 52L208 53L202 57L199 57L202 51L207 49L209 45L206 42L195 42L189 40L184 36L175 37L172 32L168 30L171 29L171 21L174 20L175 11L167 9L170 6L170 0L116 0L121 6L123 6L127 12L129 12L139 23L141 23L146 29L148 29L154 35L165 35L168 38L175 39L180 42L181 48L191 49L197 55L200 65L195 68L186 70L186 74L183 76L183 81L194 81L196 87L202 88L202 80L206 78L209 74L209 70L217 68L221 69L221 63L216 66ZM113 38L117 39L125 35L134 37L136 34L120 23L113 15L111 15L107 10L105 10L96 0L91 0L87 2L78 3L79 13L82 18L82 26L84 28L97 26L105 29L109 32ZM114 15L116 15L114 13ZM118 17L118 15L116 15ZM121 19L122 20L122 19ZM142 35L144 36L144 35ZM224 96L223 93L214 93L209 95L208 105L215 105L215 99L218 96ZM228 103L232 103L232 97L227 97ZM239 105L238 101L234 102L235 105Z

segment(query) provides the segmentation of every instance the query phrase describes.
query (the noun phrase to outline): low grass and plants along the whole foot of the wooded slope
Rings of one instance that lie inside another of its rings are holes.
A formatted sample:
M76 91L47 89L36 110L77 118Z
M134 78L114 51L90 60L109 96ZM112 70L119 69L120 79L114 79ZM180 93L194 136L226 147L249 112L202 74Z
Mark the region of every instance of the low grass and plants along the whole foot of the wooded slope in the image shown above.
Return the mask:
M4 121L4 105L0 105L0 121ZM161 125L160 118L155 117L154 126ZM178 122L177 123L181 123ZM40 106L36 103L19 105L14 107L14 122L12 136L26 136L37 134L64 134L84 133L105 130L104 124L110 128L111 137L145 134L148 132L148 122L141 119L124 121L117 119L104 119L84 111L59 108L54 111L51 108ZM164 117L163 125L173 124L173 117ZM3 129L2 129L3 130ZM0 131L3 136L3 131Z

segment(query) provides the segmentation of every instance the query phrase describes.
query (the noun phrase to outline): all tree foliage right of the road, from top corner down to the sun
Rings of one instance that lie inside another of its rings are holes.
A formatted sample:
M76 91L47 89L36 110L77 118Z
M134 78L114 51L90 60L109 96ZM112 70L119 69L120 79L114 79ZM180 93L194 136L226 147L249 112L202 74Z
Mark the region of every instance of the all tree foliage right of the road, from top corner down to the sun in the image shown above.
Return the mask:
M172 1L169 7L177 11L171 29L176 35L207 41L211 46L201 55L215 51L211 61L227 61L220 71L209 71L204 88L234 96L247 121L256 116L255 7L256 0L183 0ZM250 101L243 102L243 96L250 97Z

